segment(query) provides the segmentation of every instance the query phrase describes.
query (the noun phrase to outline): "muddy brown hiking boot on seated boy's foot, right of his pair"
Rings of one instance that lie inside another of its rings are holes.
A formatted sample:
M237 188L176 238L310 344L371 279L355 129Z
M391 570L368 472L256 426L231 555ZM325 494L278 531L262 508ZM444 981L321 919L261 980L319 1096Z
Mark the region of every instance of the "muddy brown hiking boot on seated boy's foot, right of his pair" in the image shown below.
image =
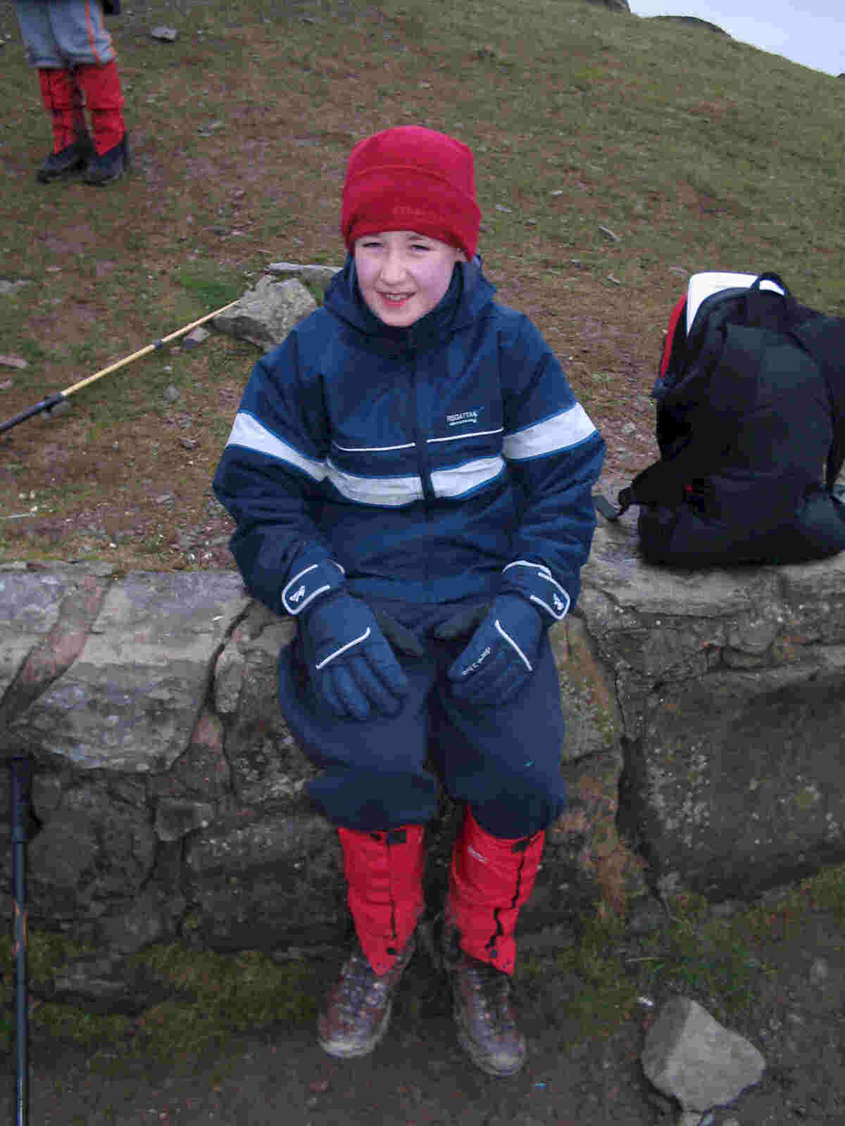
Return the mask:
M447 957L445 966L461 1047L488 1075L515 1075L526 1048L510 1003L510 978L463 950Z

